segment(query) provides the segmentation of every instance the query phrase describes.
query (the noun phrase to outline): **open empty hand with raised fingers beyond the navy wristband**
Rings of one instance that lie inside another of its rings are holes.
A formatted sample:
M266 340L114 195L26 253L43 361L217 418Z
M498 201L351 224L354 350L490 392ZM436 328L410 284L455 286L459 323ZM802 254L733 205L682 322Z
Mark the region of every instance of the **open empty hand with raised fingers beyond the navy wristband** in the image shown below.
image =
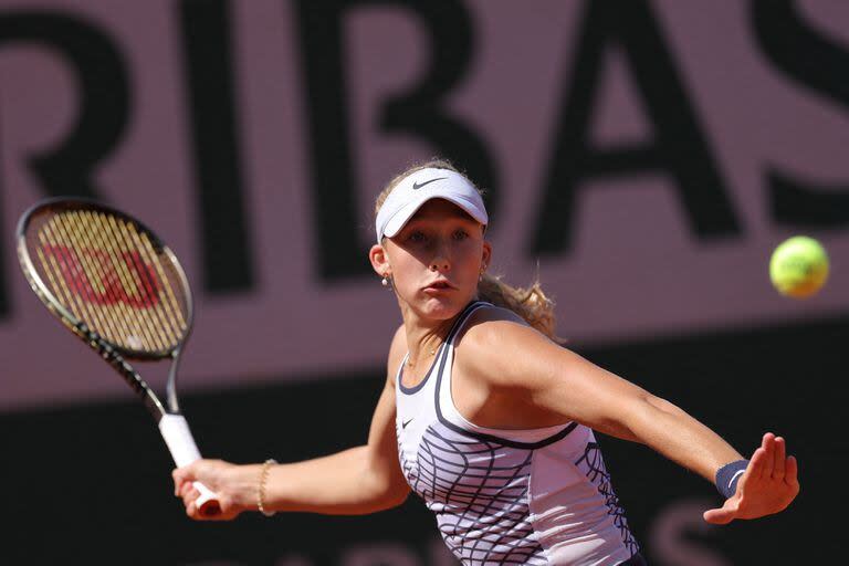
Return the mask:
M705 511L704 520L724 525L735 518L779 513L799 493L797 473L796 459L787 457L784 439L767 432L737 482L737 491L721 509Z

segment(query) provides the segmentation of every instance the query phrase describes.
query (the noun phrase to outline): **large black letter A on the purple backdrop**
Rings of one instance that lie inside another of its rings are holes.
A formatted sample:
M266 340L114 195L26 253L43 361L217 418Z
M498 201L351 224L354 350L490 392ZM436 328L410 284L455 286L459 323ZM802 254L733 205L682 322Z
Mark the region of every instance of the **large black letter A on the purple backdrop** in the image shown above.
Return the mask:
M648 3L594 0L586 2L585 9L575 69L567 83L569 88L564 88L564 109L548 160L532 252L568 252L576 192L583 181L647 170L667 170L677 181L682 205L699 238L741 233L725 182ZM652 144L608 149L588 146L598 71L606 49L614 44L622 49L633 69L653 125Z

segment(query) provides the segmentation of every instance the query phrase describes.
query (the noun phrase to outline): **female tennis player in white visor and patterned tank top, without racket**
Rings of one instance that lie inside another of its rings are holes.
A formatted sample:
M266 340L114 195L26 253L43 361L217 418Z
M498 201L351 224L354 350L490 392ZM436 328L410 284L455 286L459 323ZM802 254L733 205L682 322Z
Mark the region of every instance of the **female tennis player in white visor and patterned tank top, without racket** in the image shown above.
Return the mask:
M365 514L410 492L437 515L467 565L644 564L594 430L641 442L715 482L710 523L778 513L799 492L785 441L763 437L751 460L674 405L557 344L538 284L486 273L492 245L479 190L444 161L395 178L377 199L369 260L403 324L365 446L315 460L175 470L186 512L193 481L243 511ZM647 478L647 481L650 481Z

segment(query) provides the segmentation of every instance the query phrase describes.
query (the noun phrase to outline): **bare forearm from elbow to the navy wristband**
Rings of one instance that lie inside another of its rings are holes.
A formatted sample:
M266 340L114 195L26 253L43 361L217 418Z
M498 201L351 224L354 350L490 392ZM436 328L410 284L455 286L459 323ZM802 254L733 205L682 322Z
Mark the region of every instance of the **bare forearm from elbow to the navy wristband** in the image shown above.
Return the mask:
M720 467L743 457L719 434L671 402L647 394L615 436L649 446L711 483Z

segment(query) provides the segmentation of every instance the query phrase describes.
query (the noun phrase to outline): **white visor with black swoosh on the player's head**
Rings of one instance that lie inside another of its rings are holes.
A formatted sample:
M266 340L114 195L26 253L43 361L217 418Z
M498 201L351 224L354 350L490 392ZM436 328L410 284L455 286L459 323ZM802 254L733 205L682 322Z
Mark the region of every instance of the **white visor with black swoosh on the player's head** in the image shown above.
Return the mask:
M377 243L397 234L430 199L453 202L483 226L490 220L481 193L464 176L449 169L420 169L401 179L380 207L375 221Z

